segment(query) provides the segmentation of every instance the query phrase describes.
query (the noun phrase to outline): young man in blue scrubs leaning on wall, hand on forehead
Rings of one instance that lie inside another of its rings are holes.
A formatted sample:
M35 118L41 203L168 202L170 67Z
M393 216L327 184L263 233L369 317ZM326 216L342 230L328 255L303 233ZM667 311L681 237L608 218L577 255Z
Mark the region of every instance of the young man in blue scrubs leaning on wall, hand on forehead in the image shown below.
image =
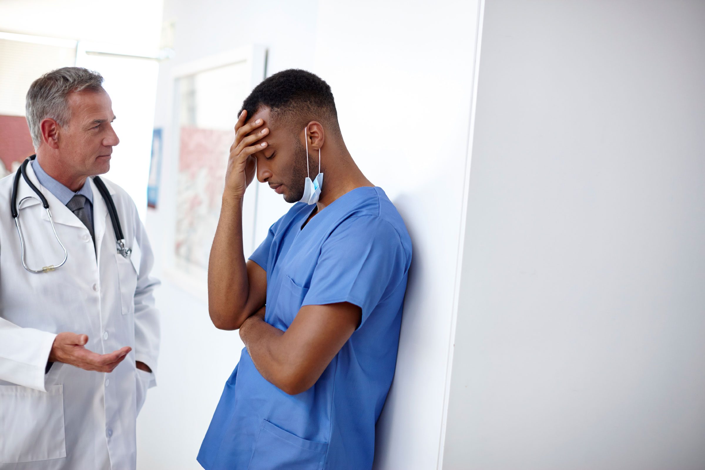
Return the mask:
M255 172L294 205L246 262ZM198 454L205 469L372 467L411 253L396 208L345 147L329 85L301 70L257 85L235 125L208 269L211 319L239 328L245 349Z

